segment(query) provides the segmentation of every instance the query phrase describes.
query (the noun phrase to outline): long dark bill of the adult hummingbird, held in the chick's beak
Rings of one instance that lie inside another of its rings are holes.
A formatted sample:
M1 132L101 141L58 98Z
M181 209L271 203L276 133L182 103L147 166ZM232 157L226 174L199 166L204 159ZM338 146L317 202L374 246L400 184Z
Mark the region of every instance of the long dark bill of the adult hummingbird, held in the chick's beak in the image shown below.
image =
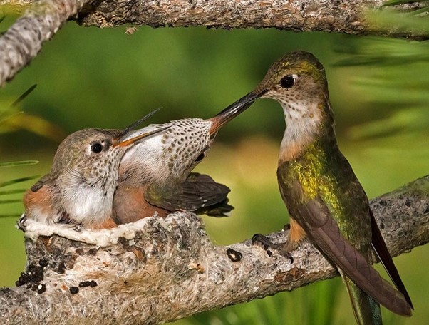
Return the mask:
M249 108L249 106L252 105L253 102L262 95L263 93L256 93L252 91L251 93L248 93L246 96L237 100L235 103L229 105L227 108L222 110L222 112L217 114L214 118L210 118L209 120L213 123L209 131L210 135L214 135L215 133L217 133L219 128L222 128L223 125L227 124L237 115L244 112L244 110Z

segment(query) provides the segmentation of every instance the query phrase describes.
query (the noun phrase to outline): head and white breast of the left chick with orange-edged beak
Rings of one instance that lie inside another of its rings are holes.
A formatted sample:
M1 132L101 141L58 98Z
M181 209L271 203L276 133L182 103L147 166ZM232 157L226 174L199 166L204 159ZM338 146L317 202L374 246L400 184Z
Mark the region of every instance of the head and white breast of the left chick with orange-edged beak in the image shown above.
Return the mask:
M133 143L162 130L165 128L130 137L129 128L89 128L68 135L58 147L51 170L60 210L83 225L106 220L118 184L120 159Z

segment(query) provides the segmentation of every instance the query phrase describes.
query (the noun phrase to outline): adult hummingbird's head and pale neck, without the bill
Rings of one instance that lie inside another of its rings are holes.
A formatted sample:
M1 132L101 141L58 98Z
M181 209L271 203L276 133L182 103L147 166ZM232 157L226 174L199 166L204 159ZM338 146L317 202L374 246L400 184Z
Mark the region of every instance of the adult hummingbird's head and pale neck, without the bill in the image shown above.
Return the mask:
M281 152L289 154L283 159L296 158L314 140L333 130L325 70L311 53L297 51L280 58L254 93L277 100L284 110Z

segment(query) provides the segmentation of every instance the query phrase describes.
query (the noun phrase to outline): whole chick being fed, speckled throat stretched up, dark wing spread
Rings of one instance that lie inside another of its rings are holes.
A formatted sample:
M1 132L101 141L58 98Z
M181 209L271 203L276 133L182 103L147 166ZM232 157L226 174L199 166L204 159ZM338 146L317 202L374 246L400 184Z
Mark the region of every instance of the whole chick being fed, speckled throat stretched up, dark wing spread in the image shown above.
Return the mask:
M233 209L227 204L229 188L208 175L191 171L207 155L217 130L252 105L255 98L242 98L207 120L172 120L130 133L135 137L168 128L133 146L123 156L113 198L115 222L135 222L155 212L165 217L177 210L227 216Z

